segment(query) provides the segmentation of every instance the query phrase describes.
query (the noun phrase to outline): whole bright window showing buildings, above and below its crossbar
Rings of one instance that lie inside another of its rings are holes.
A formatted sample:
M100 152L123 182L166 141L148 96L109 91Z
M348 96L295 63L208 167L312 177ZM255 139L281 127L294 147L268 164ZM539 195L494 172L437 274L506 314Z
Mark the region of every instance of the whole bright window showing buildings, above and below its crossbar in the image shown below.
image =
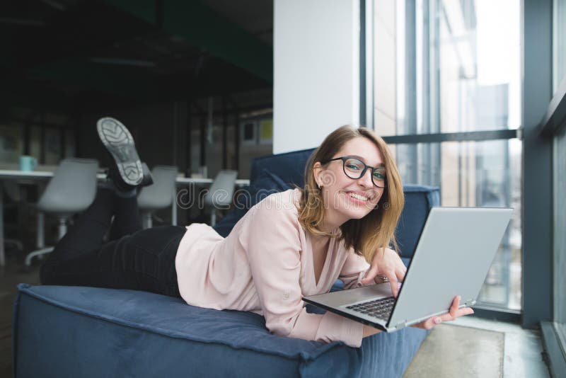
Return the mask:
M520 1L368 3L368 123L441 205L514 208L478 306L519 311Z

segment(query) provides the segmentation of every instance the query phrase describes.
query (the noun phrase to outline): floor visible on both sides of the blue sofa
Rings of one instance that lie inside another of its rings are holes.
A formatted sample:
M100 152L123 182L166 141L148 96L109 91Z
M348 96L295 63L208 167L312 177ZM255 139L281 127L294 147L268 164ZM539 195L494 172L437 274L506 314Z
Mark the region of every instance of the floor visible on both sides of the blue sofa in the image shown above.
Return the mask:
M38 266L23 272L23 256L0 268L0 378L11 377L12 304L16 285L39 283ZM425 340L405 378L550 377L539 331L476 317L444 323Z

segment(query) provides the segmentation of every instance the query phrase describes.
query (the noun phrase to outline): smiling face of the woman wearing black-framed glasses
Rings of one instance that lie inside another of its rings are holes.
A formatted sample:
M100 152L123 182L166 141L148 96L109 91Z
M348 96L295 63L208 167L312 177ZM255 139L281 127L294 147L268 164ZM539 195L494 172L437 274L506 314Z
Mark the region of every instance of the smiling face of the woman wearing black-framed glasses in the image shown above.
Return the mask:
M354 156L364 164L374 168L383 166L381 152L370 139L356 137L346 142L333 158ZM321 186L325 206L325 228L339 227L350 219L365 217L374 210L383 188L378 188L371 181L371 169L368 168L361 178L346 176L342 160L330 161L323 167L319 162L314 165L315 179Z

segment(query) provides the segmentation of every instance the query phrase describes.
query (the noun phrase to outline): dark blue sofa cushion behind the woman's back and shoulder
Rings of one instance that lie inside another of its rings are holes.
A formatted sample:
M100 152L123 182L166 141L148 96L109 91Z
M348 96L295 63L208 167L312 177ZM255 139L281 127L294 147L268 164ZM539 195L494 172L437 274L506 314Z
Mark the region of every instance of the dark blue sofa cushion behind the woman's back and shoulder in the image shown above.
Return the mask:
M238 220L250 210L250 207L270 194L283 192L289 188L291 187L281 178L263 168L259 176L252 180L249 186L236 190L233 201L234 208L213 228L221 236L228 236Z

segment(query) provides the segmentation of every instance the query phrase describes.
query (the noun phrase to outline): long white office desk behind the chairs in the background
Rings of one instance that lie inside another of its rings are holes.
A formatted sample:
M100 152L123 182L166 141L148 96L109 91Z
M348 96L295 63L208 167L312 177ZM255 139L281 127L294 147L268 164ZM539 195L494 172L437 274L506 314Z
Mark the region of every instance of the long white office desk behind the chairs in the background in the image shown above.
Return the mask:
M105 173L98 173L98 180L104 180L106 178ZM52 171L16 171L16 170L6 170L0 169L0 266L6 265L6 256L4 251L4 188L1 185L2 181L5 180L25 180L31 181L33 183L39 183L42 181L47 181L53 177ZM181 185L210 185L212 184L212 178L192 178L192 177L178 177L176 179L177 186ZM236 186L249 185L250 181L245 179L236 180ZM172 193L173 202L171 205L171 223L177 224L177 192Z

